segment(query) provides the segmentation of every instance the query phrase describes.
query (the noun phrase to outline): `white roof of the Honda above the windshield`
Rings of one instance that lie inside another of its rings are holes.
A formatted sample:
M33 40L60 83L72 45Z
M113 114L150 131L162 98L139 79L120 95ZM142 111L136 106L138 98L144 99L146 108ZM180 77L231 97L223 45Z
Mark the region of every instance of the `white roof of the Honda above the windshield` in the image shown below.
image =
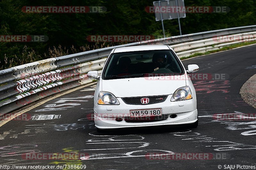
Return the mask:
M146 51L146 50L169 50L167 45L147 45L147 46L127 46L116 48L114 53L130 52L130 51Z

